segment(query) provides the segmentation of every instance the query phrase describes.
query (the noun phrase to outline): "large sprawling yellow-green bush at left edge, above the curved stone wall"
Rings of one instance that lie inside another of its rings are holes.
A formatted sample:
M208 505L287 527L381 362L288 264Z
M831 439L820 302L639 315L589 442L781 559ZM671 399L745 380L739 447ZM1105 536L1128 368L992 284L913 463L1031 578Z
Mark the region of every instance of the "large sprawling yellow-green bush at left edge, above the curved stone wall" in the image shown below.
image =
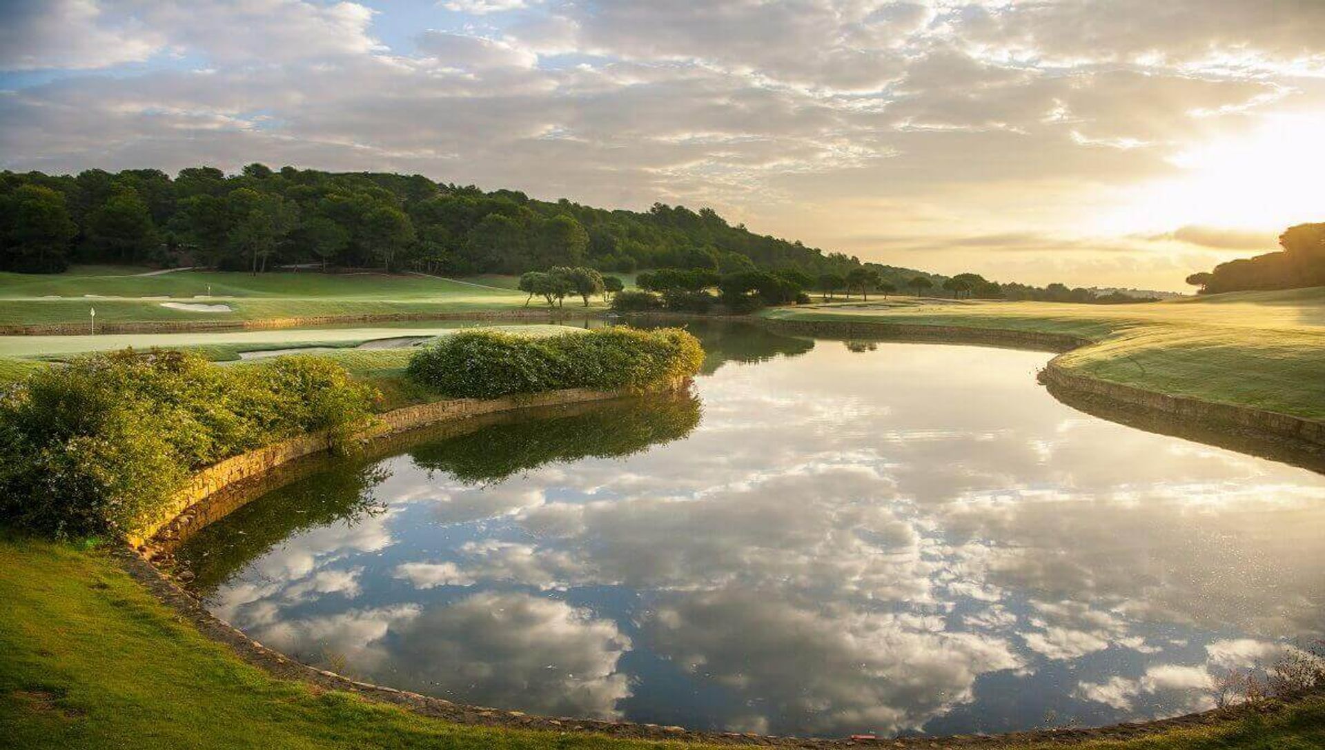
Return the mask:
M192 471L346 430L371 398L314 357L223 368L126 349L40 370L0 396L0 520L57 536L131 534Z

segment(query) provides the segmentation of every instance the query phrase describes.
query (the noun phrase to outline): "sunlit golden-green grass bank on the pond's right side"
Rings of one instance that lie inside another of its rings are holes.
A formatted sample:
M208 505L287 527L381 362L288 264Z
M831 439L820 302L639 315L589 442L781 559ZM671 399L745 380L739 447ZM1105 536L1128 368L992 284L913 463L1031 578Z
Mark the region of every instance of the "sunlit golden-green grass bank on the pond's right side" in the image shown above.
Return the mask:
M1090 377L1325 418L1325 287L1128 306L901 298L765 315L1069 333L1096 344L1060 364Z

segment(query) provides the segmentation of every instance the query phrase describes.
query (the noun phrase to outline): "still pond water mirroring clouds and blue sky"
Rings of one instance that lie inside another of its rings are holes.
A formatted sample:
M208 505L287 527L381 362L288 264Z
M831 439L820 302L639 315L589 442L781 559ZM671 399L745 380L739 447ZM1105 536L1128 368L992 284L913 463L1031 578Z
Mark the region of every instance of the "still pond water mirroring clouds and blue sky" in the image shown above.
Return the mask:
M1317 474L1076 411L1044 353L697 332L693 394L341 459L180 558L321 667L694 729L1170 716L1322 635Z

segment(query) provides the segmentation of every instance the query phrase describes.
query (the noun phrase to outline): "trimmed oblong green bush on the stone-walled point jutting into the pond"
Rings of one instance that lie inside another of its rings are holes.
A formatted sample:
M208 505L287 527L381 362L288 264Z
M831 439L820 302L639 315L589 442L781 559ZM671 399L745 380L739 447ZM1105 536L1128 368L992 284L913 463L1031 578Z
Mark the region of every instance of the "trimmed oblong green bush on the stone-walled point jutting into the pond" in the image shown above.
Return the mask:
M647 390L693 376L700 341L680 328L599 328L533 339L466 331L415 352L408 374L444 396L496 398L563 388Z

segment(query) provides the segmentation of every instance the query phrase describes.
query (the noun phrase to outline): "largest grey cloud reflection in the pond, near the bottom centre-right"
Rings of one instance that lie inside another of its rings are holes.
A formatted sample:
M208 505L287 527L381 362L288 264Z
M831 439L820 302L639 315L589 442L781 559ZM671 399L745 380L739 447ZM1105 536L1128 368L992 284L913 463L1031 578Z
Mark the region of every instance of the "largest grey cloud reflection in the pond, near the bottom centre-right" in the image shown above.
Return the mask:
M758 591L673 597L647 632L688 672L758 698L774 733L918 729L973 700L979 675L1022 664L1000 639L880 612L818 614Z

